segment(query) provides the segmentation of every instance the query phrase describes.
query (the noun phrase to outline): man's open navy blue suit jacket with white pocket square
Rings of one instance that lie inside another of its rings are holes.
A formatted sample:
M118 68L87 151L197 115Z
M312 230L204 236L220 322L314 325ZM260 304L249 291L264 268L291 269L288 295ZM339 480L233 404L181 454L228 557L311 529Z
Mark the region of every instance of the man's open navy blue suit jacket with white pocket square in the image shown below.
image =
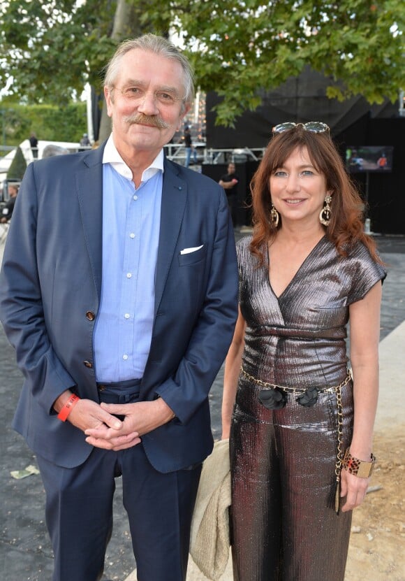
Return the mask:
M68 388L98 401L91 313L101 295L102 157L99 148L28 166L1 271L1 320L25 376L13 426L34 452L66 467L82 464L92 448L52 404ZM161 396L177 416L142 437L158 471L211 452L208 392L236 317L235 241L223 189L165 159L155 317L140 391L144 401Z

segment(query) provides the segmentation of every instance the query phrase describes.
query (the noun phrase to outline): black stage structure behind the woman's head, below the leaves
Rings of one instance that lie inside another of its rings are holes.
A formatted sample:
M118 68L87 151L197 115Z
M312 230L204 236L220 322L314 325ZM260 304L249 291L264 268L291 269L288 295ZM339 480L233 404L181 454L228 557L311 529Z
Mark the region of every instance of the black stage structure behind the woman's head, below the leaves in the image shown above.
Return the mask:
M240 150L265 148L272 127L285 121L323 121L330 127L332 138L342 157L346 148L366 145L393 147L392 171L353 173L364 200L367 199L371 231L380 234L405 234L405 117L399 114L399 103L384 101L370 106L362 96L340 102L328 99L330 81L307 67L300 76L290 78L272 92L263 91L263 103L253 112L246 112L235 122L235 129L215 126L212 108L219 102L209 92L207 108L207 148ZM405 112L404 112L405 113ZM249 182L258 162L236 161L240 176L237 225L249 225ZM219 180L226 173L225 164L203 164L202 173Z

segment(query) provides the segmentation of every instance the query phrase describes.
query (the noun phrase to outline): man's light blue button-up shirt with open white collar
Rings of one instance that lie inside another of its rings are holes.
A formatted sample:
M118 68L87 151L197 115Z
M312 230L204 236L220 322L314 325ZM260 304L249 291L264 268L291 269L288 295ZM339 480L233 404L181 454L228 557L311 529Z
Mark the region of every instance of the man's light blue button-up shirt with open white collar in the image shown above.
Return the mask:
M163 151L138 189L110 136L103 155L103 277L94 328L98 382L141 378L154 321Z

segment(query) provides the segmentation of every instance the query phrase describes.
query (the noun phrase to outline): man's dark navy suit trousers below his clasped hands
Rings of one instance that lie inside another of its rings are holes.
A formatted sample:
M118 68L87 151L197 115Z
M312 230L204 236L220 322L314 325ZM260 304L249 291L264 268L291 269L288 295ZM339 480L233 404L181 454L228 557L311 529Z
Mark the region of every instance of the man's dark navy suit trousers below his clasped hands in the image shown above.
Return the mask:
M133 386L101 401L138 399ZM66 442L68 446L68 442ZM46 492L46 522L54 550L52 581L98 581L112 533L115 478L121 476L138 581L185 581L191 517L201 465L167 474L149 463L142 443L113 452L94 448L75 468L38 457Z

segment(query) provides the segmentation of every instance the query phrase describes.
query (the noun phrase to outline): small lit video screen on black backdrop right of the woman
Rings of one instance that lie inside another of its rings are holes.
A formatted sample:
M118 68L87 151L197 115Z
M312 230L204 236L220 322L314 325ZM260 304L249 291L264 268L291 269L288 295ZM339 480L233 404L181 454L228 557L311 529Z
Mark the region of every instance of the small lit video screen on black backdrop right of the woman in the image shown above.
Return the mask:
M392 145L358 145L346 148L346 170L349 173L392 171Z

